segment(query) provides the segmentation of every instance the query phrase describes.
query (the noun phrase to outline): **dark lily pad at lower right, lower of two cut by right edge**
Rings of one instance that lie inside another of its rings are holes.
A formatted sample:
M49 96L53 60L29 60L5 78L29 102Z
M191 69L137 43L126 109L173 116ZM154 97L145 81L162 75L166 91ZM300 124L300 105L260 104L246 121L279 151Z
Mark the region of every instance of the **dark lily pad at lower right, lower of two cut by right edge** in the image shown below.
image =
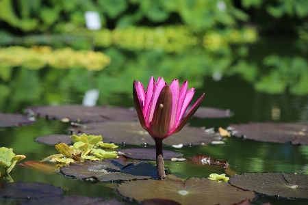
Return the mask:
M232 176L229 183L264 195L308 199L308 175L306 174L245 173Z

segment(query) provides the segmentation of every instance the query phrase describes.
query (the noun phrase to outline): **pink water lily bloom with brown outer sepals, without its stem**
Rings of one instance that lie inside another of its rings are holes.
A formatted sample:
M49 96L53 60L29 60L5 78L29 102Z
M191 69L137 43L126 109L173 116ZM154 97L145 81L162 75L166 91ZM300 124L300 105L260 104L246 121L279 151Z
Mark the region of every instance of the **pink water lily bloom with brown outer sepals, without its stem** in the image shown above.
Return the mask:
M204 94L183 118L194 96L194 88L187 89L188 81L180 87L177 79L167 85L162 77L157 82L151 77L146 91L142 83L133 81L133 100L140 124L154 139L165 139L181 131L201 105Z

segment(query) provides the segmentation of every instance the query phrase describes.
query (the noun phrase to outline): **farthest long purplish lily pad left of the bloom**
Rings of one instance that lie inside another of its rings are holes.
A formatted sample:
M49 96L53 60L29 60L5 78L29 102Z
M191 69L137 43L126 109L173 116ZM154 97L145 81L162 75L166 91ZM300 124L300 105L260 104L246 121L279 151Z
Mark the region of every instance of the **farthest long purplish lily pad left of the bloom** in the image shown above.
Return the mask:
M29 107L25 110L31 115L71 122L105 122L138 120L136 110L107 105L84 107L82 105L60 105Z

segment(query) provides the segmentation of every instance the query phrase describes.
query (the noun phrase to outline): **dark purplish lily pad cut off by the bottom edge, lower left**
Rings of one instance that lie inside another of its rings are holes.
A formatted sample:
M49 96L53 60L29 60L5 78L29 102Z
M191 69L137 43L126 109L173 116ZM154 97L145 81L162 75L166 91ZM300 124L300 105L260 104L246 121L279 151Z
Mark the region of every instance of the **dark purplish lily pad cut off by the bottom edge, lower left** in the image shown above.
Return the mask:
M31 205L124 205L122 202L119 202L116 199L104 200L103 197L81 197L81 196L72 196L72 197L44 197L38 200L28 200L23 204Z

